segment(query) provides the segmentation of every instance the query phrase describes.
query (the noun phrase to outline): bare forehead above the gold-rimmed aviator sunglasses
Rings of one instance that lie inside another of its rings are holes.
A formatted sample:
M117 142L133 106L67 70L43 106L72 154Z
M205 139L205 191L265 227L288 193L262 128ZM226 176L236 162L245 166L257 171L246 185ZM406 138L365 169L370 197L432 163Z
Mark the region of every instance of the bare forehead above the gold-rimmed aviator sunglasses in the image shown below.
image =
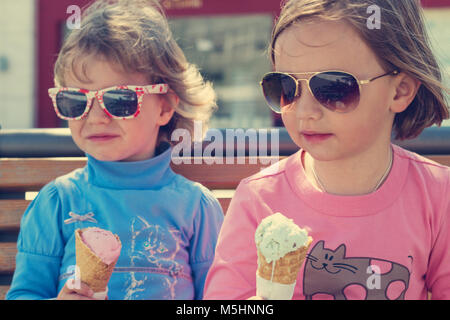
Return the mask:
M275 44L275 68L286 72L358 71L375 65L376 57L344 21L308 19L284 30Z

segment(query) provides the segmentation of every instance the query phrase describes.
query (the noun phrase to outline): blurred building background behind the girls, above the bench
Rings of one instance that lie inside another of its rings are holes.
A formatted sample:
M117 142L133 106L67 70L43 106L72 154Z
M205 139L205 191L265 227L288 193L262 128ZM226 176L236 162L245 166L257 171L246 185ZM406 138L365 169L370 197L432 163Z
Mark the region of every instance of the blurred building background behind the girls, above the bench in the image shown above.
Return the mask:
M400 0L399 0L400 1ZM58 128L47 95L67 32L70 5L88 0L0 0L0 126ZM280 0L162 0L188 60L213 82L219 110L212 128L268 128L279 119L259 88ZM422 0L427 27L450 86L450 0ZM444 124L450 126L450 121Z

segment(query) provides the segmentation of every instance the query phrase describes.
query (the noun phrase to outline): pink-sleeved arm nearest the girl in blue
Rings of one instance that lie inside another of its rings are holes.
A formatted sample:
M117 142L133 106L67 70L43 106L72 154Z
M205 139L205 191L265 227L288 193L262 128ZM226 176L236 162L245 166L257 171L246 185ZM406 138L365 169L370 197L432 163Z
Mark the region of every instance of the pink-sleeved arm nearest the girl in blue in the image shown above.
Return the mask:
M258 225L251 188L245 183L236 189L219 234L216 255L205 283L205 299L248 299L256 294Z

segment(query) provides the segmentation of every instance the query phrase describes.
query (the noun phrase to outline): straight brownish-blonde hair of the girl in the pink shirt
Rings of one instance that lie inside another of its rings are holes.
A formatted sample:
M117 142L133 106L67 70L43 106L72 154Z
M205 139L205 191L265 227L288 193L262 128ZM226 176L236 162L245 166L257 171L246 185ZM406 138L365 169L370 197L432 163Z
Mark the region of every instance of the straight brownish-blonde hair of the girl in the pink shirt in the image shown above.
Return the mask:
M381 28L369 29L367 8L381 12ZM275 43L292 24L306 18L349 22L375 52L386 71L400 70L419 80L421 86L408 108L395 116L396 139L412 139L433 124L449 117L442 75L431 50L423 10L418 0L289 0L285 2L272 32L269 55L275 65Z

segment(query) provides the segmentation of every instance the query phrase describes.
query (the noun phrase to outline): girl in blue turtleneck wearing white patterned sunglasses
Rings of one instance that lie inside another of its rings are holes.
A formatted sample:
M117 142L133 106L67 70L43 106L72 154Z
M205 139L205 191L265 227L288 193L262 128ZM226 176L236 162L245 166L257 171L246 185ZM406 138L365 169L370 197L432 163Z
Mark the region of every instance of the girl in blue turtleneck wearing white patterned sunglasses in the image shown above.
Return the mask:
M97 1L65 40L49 90L87 164L30 204L7 299L92 299L75 273L78 228L117 234L109 299L201 299L223 213L212 193L174 173L169 137L215 105L149 1Z

